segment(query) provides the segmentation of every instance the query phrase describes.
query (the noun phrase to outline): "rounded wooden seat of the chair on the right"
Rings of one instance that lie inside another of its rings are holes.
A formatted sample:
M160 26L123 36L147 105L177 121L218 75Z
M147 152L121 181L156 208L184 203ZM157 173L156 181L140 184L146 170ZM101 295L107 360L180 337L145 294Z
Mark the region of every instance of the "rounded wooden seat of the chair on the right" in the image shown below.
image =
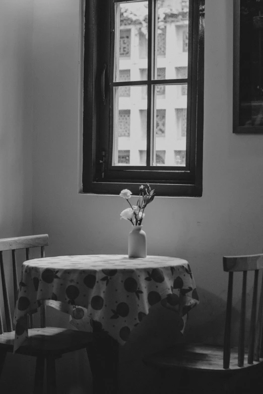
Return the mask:
M228 369L223 368L223 347L203 345L203 344L187 344L178 345L161 352L145 357L144 362L147 365L158 368L185 368L204 371L228 372L240 370L244 367L251 367L263 361L260 358L258 362L247 364L247 351L245 352L244 367L237 366L238 353L237 349L231 349L230 366Z

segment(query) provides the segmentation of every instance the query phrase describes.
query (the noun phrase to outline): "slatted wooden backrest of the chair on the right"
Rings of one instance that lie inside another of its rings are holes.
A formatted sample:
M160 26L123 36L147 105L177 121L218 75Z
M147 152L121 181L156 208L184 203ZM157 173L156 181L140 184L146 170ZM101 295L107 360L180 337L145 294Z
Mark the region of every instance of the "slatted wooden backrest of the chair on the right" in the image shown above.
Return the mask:
M258 272L259 270L263 269L263 254L223 257L223 267L224 267L224 271L229 272L226 324L225 324L225 337L224 337L224 360L223 360L223 368L227 369L229 368L230 353L231 353L230 334L231 334L231 311L232 311L234 272L243 272L237 365L239 367L244 366L247 271L254 271L254 284L253 284L250 329L249 329L249 338L248 338L247 363L253 364L253 360L259 361L259 358L262 357L263 355L263 343L262 343L263 275L262 275L262 282L261 282L260 295L259 295L258 313L256 313Z

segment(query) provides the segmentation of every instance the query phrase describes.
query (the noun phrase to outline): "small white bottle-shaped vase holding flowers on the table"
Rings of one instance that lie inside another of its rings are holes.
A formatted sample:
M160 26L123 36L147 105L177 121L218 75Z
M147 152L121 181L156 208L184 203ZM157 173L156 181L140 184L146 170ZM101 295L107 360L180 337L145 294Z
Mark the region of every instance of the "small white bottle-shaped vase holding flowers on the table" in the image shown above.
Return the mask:
M133 226L128 237L128 257L147 257L146 233L143 226Z

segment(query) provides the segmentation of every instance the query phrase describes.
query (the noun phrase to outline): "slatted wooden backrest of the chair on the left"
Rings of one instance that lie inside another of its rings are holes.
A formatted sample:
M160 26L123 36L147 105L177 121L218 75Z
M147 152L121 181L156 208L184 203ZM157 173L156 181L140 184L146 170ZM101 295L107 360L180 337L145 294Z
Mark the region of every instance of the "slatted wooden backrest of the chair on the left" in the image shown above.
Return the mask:
M6 317L6 325L7 331L11 332L12 328L12 318L10 311L10 303L9 303L9 295L8 288L4 270L4 259L3 259L3 251L12 251L12 264L13 264L13 284L14 284L14 301L16 304L17 296L18 296L18 279L17 279L17 262L16 262L16 250L17 249L25 249L26 250L26 259L29 260L29 251L31 248L41 248L41 257L45 257L44 247L48 245L48 235L29 235L28 237L16 237L16 238L5 238L0 239L0 271L2 278L2 290L3 290L3 299L4 299L4 309L5 309L5 317ZM45 307L44 305L40 309L40 319L41 319L41 327L45 327ZM32 328L33 321L32 315L28 317L28 326ZM4 333L3 327L3 319L0 310L0 334Z

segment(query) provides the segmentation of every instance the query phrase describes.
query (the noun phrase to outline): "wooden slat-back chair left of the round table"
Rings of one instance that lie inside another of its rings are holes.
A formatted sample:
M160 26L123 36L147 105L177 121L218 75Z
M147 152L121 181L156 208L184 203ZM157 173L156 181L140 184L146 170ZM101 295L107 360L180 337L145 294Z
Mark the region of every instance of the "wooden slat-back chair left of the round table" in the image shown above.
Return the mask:
M7 238L0 240L0 270L2 277L3 299L7 331L0 310L0 375L4 366L7 352L13 352L15 331L12 327L8 287L6 282L3 251L12 251L14 300L18 296L16 250L26 250L26 260L29 260L30 248L41 248L44 257L44 247L48 245L48 235L31 235L29 237ZM46 378L48 394L56 393L55 360L62 354L88 347L92 334L76 330L61 329L45 326L45 306L40 310L40 328L32 328L32 315L28 317L29 338L16 353L36 357L34 394L43 392L44 365L46 362Z

